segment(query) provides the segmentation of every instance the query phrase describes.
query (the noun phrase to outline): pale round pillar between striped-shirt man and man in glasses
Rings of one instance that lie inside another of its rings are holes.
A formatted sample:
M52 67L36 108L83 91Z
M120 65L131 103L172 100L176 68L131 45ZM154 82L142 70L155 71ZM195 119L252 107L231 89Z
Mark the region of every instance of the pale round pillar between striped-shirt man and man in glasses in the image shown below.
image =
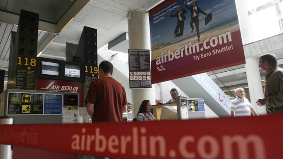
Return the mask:
M250 102L256 112L260 115L266 114L265 106L258 106L256 101L259 98L263 98L263 90L261 86L260 71L258 68L257 57L246 57L246 75L248 80L248 89L250 92Z

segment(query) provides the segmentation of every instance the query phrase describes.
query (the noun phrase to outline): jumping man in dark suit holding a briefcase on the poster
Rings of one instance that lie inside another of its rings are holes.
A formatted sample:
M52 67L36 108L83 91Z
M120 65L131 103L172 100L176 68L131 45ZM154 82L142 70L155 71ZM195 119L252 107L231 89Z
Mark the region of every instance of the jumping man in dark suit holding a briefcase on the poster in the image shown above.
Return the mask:
M193 26L193 23L195 24L196 26L196 33L198 35L198 42L200 42L200 30L199 30L199 20L198 20L198 14L201 13L201 14L204 14L204 15L208 15L206 14L205 12L203 12L200 7L197 7L198 5L198 2L197 1L194 1L193 5L192 6L188 6L186 1L184 1L184 5L186 8L188 8L188 10L190 10L191 12L191 21L190 21L190 27L192 28L192 31L191 33L194 31L194 26Z

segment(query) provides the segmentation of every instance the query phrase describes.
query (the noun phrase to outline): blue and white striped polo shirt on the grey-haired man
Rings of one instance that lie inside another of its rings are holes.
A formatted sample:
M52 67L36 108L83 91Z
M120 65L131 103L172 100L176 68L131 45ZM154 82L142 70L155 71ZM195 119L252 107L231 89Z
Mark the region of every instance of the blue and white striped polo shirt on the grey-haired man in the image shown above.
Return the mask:
M235 111L235 116L240 117L240 116L250 116L250 108L252 107L252 104L248 101L247 98L243 97L243 100L240 98L236 97L232 102L231 102L231 111Z

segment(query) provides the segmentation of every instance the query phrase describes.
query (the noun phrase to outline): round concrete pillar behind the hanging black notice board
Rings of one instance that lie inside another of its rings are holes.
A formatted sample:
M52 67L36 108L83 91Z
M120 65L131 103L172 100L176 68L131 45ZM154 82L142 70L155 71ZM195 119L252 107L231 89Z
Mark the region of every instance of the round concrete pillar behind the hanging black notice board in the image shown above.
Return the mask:
M148 13L135 10L128 14L128 33L130 49L150 50L149 18ZM149 100L151 105L155 104L155 88L132 89L133 117L136 117L140 104L143 100Z

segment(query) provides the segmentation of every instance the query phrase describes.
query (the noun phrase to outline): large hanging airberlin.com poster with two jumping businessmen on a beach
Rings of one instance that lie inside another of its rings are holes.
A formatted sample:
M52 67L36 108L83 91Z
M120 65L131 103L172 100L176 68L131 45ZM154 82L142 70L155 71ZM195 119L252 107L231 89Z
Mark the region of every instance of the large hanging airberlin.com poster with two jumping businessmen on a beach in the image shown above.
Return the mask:
M149 23L152 84L245 63L234 0L166 0Z

